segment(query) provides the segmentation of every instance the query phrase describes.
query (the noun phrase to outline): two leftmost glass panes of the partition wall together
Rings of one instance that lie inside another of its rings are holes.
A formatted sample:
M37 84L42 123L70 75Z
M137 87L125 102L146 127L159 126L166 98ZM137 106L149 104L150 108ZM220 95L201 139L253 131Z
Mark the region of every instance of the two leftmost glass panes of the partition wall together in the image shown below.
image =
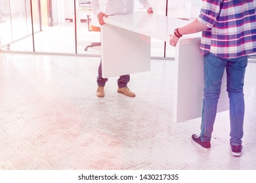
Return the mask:
M75 54L74 4L0 0L0 50Z

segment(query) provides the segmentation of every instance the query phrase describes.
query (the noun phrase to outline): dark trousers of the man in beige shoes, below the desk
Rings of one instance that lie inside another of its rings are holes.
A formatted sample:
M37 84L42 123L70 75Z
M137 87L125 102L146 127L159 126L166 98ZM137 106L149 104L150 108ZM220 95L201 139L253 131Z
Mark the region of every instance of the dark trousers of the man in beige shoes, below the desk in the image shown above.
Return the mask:
M98 76L97 76L97 84L98 86L105 86L108 78L102 78L102 63L100 59L100 66L98 67ZM119 88L124 88L127 86L127 83L130 81L130 75L119 76L117 80L117 85Z

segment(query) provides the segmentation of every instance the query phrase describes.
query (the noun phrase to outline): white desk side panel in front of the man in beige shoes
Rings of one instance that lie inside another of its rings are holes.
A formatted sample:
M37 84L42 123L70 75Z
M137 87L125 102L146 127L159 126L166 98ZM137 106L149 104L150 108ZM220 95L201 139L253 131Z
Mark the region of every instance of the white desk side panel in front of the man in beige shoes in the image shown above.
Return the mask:
M101 42L104 78L150 71L150 37L105 24Z

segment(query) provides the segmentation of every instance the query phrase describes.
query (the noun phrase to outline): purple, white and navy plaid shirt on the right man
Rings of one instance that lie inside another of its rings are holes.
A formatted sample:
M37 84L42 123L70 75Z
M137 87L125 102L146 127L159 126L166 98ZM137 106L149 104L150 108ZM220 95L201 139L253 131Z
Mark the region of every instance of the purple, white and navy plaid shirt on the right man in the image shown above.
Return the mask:
M256 52L256 0L203 0L198 20L202 32L200 53L238 58Z

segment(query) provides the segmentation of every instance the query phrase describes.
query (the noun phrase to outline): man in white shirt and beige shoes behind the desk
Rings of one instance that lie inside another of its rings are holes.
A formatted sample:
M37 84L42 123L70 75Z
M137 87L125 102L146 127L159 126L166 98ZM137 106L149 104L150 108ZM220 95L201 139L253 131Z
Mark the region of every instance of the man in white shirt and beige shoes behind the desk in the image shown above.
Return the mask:
M147 9L148 14L154 13L150 3L147 0L139 0L144 8ZM133 0L106 0L104 12L100 10L100 5L98 0L91 0L93 7L93 14L98 18L98 23L104 25L104 17L108 18L108 15L121 15L121 14L130 14L134 10L134 1ZM120 60L121 61L121 60ZM102 78L102 64L100 60L100 66L98 67L98 76L97 84L98 88L96 90L97 97L104 97L104 86L108 78ZM118 93L123 93L129 97L135 97L135 93L131 92L127 88L127 83L130 81L130 75L119 76L117 80L118 84Z

